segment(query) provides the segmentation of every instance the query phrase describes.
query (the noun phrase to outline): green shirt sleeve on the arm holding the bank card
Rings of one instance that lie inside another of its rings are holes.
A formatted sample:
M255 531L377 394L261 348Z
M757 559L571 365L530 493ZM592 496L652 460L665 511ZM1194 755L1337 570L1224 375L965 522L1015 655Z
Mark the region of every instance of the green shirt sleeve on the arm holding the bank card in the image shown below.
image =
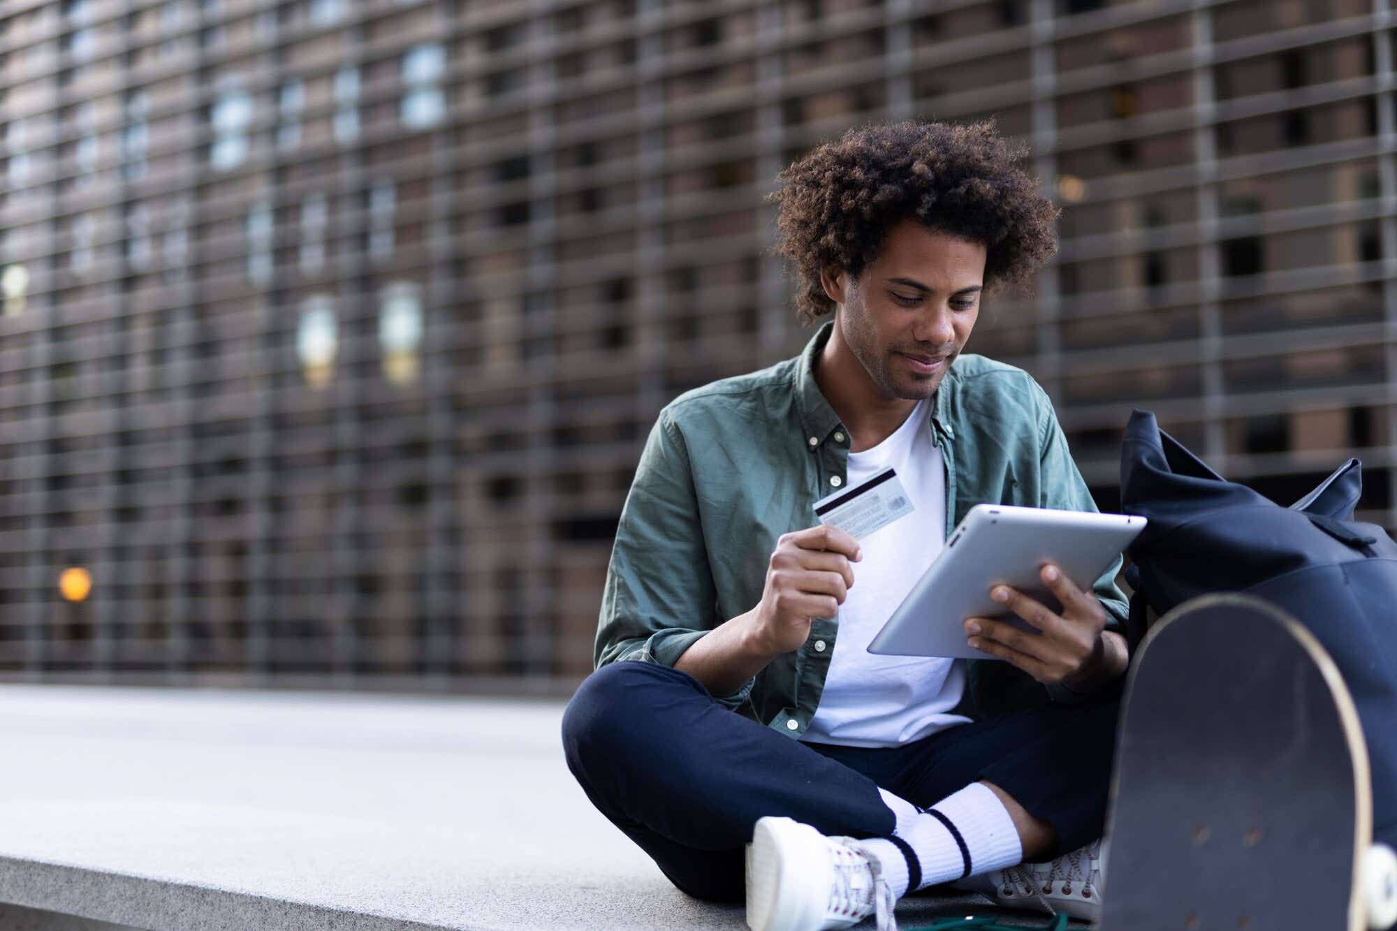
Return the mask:
M683 435L668 410L645 439L606 566L592 661L672 667L717 618L717 593ZM731 696L736 709L756 678Z

